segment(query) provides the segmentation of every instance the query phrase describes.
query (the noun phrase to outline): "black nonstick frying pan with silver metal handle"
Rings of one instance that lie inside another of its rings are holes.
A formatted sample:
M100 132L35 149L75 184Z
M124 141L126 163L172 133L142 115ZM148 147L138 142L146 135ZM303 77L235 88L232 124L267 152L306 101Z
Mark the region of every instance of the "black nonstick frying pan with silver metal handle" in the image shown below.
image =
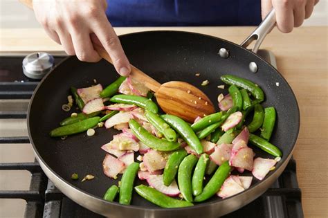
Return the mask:
M246 46L257 39L253 48L256 52L274 23L273 11L242 45ZM158 208L136 192L131 206L104 201L104 192L110 185L117 184L120 176L113 180L103 174L105 152L100 147L108 143L118 131L98 128L93 137L84 133L69 136L65 140L50 138L48 133L73 112L61 109L70 94L69 87L89 87L94 79L107 85L116 80L118 75L113 66L104 60L86 63L76 57L67 57L39 83L28 107L28 134L35 156L57 188L81 206L107 217L218 217L253 201L273 184L291 158L300 127L300 112L293 91L273 66L243 46L197 33L132 33L121 35L120 42L130 62L158 82L189 82L204 91L212 102L216 102L219 93L227 93L226 90L217 89L218 85L223 84L220 75L233 74L258 84L266 94L262 105L274 106L277 110L277 123L271 142L282 150L282 160L264 180L253 178L248 190L227 199L215 196L190 208ZM196 77L195 73L201 75ZM201 87L203 80L209 80L210 84ZM257 156L273 158L257 147L252 148ZM80 177L93 174L95 179L83 183L72 181L73 173L78 173ZM250 172L244 172L244 175L250 175ZM140 183L143 181L137 179L135 185Z

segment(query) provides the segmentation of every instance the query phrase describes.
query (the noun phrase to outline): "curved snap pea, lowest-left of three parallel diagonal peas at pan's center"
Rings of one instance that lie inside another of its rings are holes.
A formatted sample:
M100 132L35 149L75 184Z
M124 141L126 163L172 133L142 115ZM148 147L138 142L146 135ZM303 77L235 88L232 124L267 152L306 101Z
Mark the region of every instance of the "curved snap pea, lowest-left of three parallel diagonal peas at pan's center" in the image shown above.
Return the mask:
M153 136L149 133L149 131L147 131L138 122L136 122L136 120L130 120L129 127L140 141L152 149L169 152L180 147L180 144L177 142L169 142L168 140L163 140Z

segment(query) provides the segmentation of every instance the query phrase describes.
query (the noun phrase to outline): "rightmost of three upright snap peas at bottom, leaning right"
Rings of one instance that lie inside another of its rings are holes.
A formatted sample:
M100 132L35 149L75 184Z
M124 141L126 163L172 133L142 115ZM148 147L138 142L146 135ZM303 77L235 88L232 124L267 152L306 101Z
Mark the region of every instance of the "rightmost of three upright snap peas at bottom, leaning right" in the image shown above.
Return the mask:
M197 197L194 198L195 202L201 202L201 201L206 201L210 197L212 197L215 193L217 193L221 186L223 185L224 181L228 177L230 173L230 165L228 161L224 162L215 174L212 176L210 181L205 185L203 192L199 194Z

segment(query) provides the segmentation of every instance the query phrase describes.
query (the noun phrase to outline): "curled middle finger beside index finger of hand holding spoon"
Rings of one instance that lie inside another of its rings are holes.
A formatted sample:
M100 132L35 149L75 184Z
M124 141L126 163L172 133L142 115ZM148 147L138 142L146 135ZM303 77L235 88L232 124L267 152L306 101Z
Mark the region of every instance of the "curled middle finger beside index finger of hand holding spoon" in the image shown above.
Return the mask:
M75 55L84 62L98 62L101 57L93 49L89 33L72 33Z

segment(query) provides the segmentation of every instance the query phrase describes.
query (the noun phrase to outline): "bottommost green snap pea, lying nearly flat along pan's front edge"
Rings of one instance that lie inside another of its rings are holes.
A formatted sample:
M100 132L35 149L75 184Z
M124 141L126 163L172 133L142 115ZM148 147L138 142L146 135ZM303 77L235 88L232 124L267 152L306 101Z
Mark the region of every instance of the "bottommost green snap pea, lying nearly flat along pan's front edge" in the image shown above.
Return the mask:
M146 185L138 185L134 187L134 190L136 190L141 197L156 204L157 206L160 206L161 208L183 208L193 206L193 204L188 201L181 201L168 197L166 194L158 192L158 190Z

